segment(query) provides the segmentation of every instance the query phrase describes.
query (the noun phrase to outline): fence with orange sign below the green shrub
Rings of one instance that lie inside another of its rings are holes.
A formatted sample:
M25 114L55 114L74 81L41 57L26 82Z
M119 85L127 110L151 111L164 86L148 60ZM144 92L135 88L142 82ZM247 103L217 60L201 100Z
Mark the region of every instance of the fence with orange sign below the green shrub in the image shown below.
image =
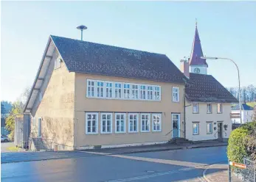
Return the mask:
M229 161L229 182L256 182L256 164L243 159L243 164Z

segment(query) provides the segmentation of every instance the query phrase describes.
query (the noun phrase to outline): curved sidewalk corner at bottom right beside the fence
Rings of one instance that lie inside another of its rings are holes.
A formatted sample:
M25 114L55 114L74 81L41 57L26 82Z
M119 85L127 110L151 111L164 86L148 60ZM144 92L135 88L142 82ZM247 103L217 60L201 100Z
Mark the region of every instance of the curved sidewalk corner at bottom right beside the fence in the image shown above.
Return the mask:
M228 182L228 165L226 163L212 164L207 170L204 170L204 179L207 182L221 181Z

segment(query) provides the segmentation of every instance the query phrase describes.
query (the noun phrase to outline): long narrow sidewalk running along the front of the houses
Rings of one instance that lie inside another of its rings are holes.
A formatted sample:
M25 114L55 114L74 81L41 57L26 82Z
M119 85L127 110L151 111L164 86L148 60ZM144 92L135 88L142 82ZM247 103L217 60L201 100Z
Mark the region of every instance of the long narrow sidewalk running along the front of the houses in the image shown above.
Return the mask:
M42 161L50 159L75 159L80 157L98 156L93 153L107 153L107 154L125 154L125 153L146 153L154 151L165 150L182 150L190 148L209 148L226 146L226 142L200 142L197 144L174 145L144 145L127 148L104 148L92 150L75 150L75 151L58 151L58 152L19 152L19 153L1 153L1 164L21 162L21 161ZM91 153L87 153L91 152Z

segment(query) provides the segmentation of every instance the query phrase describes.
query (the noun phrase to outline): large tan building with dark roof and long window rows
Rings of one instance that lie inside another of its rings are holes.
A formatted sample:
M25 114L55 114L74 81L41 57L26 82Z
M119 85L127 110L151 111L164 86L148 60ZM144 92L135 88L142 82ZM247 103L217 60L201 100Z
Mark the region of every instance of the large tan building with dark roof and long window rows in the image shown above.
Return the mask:
M58 150L184 137L185 79L164 54L51 35L24 109L30 137Z

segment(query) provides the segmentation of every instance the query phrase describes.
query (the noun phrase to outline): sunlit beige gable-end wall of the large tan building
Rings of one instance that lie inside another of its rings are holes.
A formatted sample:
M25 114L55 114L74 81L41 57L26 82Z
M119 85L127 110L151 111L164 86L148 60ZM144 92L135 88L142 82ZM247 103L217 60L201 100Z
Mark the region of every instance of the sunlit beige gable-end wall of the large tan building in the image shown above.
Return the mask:
M32 108L31 113L32 117L35 117L35 122L31 122L31 135L38 136L38 118L41 117L42 139L54 142L58 145L58 150L72 150L75 73L69 73L64 62L61 62L60 68L54 69L58 55L58 51L55 50L41 86L43 99L40 102L38 94Z

